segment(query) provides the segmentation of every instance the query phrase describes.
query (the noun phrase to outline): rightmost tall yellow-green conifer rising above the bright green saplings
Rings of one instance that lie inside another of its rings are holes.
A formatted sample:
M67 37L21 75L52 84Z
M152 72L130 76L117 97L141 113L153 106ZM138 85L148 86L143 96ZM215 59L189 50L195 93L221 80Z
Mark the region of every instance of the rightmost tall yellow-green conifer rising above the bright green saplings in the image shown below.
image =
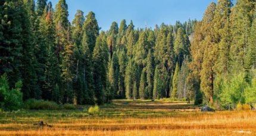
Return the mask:
M232 72L237 73L244 70L246 59L246 48L248 48L248 38L251 27L251 5L248 0L236 1L235 7L230 14L230 29L232 41L230 46L230 59Z

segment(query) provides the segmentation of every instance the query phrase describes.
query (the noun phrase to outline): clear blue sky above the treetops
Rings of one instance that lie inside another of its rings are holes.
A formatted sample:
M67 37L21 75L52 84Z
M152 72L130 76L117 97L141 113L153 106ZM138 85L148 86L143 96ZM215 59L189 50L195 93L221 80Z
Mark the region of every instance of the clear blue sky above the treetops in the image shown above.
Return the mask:
M55 8L58 0L48 0ZM144 28L174 24L177 20L188 21L189 18L201 20L205 9L217 0L66 0L68 19L72 21L77 9L96 14L99 27L108 30L113 21L120 24L125 19L127 24L133 21L135 27Z

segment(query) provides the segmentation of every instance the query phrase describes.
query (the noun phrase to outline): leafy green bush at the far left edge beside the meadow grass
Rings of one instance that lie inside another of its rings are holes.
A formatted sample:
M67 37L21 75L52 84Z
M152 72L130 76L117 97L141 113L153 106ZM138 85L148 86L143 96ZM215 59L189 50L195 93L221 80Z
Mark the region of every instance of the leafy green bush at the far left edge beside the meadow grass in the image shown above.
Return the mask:
M15 83L15 89L10 89L6 74L0 78L0 108L13 111L20 109L23 105L22 93L20 92L22 82Z

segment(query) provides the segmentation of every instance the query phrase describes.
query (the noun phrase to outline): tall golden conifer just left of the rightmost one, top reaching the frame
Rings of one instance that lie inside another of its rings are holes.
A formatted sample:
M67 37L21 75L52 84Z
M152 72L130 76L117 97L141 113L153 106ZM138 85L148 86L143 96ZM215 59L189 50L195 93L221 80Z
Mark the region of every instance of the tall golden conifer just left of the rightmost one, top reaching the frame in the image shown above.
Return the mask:
M218 59L214 69L217 76L227 74L229 67L229 48L230 48L230 12L232 2L230 0L219 0L214 15L214 42L218 47Z

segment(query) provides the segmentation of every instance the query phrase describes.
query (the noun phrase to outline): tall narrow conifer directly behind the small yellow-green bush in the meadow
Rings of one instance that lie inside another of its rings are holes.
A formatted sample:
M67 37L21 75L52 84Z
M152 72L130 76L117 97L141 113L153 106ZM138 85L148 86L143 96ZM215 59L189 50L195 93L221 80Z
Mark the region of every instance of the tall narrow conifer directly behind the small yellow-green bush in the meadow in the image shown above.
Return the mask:
M105 90L107 89L107 66L108 46L105 34L102 32L96 40L93 50L93 80L95 97L98 104L105 101Z

